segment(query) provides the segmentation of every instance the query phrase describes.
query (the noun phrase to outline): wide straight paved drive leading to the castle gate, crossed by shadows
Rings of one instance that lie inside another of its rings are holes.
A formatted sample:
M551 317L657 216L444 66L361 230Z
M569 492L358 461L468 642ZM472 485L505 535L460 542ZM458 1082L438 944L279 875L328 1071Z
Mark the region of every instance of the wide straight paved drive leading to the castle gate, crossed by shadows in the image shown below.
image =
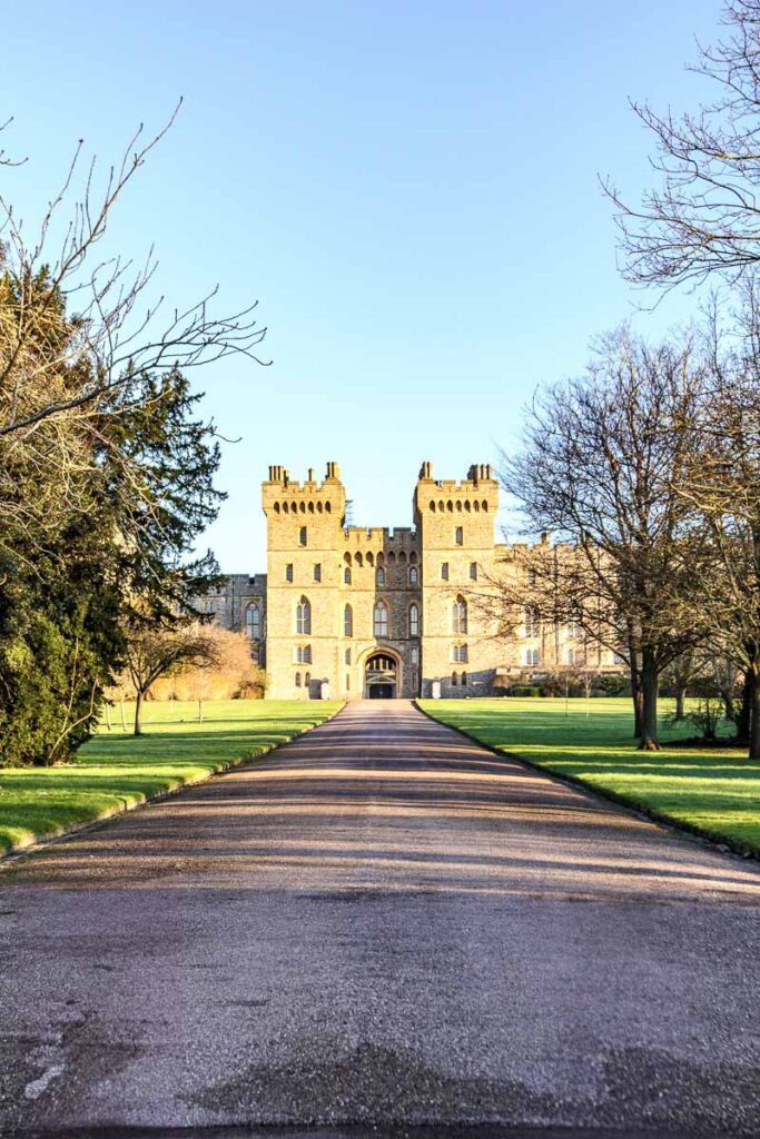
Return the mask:
M759 901L752 863L354 704L3 871L0 1133L754 1137Z

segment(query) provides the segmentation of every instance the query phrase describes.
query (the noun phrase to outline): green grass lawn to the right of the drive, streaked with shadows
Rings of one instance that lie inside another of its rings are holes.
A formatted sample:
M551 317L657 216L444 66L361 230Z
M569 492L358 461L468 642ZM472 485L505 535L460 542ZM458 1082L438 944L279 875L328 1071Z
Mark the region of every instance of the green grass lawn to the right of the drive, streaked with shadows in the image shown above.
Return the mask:
M760 763L743 749L678 747L693 726L661 722L661 752L637 752L629 699L420 700L499 752L569 776L656 818L760 853ZM661 713L672 702L661 700Z

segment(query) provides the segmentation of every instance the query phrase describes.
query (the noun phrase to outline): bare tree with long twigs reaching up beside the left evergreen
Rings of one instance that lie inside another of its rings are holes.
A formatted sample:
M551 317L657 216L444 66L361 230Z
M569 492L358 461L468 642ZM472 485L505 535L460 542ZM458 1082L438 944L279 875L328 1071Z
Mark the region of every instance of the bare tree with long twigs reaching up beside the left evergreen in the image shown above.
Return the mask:
M114 420L150 399L142 377L155 388L164 375L232 354L264 362L255 302L215 312L213 287L172 310L153 295L153 251L141 265L100 256L120 198L175 114L148 139L140 126L101 183L80 141L36 226L0 186L0 540L14 526L27 546L31 536L43 546L46 519L83 509L98 456L119 451ZM0 170L11 165L0 154ZM114 461L139 497L139 470L125 456Z

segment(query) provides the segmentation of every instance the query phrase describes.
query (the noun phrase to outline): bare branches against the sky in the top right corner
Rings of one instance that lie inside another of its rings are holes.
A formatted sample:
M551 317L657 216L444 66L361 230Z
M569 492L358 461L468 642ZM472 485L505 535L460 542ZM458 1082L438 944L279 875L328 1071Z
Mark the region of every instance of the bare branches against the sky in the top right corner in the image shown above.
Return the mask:
M623 272L665 289L713 273L736 281L760 262L760 0L727 0L728 28L692 67L714 90L696 113L634 104L654 136L659 186L631 205L605 182L619 213Z

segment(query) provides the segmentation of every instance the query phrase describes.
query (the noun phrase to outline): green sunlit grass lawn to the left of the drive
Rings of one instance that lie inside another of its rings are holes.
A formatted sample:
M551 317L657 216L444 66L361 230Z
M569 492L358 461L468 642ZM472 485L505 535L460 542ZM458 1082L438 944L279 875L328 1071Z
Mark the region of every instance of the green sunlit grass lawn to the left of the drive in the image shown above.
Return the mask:
M134 706L126 707L133 718ZM260 755L340 707L336 700L219 700L204 705L198 723L197 704L149 703L144 736L125 734L112 714L112 730L101 726L73 763L0 768L0 852Z

